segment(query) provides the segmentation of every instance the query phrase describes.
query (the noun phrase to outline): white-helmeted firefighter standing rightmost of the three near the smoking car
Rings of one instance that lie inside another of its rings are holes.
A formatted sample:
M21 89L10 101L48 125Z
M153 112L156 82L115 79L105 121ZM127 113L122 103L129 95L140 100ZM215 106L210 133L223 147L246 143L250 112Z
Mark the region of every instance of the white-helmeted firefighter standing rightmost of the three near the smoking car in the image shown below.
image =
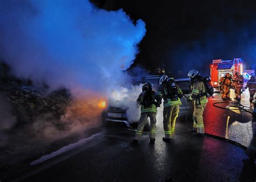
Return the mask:
M204 137L204 119L203 113L207 104L206 88L203 83L202 76L199 75L197 69L191 69L187 76L191 79L192 95L188 100L194 102L193 112L193 136ZM197 132L196 132L197 131Z

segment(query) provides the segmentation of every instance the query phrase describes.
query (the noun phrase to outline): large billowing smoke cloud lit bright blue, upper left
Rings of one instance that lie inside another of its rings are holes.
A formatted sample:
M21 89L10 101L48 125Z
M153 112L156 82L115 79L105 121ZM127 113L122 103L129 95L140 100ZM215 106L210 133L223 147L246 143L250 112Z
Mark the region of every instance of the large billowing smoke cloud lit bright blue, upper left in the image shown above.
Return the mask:
M0 1L0 59L19 78L107 93L125 85L145 23L89 1Z

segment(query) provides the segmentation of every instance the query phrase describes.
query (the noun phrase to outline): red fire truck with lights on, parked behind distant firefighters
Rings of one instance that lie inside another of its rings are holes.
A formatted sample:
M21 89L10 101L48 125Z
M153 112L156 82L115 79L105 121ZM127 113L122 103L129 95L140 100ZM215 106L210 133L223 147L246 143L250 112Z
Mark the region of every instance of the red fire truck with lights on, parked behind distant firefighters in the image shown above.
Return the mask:
M221 77L225 76L226 73L232 75L234 78L234 74L238 72L244 77L244 87L248 80L250 80L251 76L254 76L254 70L244 70L245 62L241 58L234 58L233 60L222 60L215 59L212 60L212 64L210 65L211 71L211 80L214 88L219 87L219 80Z

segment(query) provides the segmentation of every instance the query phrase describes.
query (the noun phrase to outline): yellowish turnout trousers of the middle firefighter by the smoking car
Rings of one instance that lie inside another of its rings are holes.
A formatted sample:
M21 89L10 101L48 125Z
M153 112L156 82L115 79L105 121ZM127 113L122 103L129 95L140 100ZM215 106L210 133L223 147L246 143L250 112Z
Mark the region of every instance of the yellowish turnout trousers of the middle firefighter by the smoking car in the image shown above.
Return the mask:
M172 138L175 131L175 123L179 114L179 104L164 108L164 132L165 138Z

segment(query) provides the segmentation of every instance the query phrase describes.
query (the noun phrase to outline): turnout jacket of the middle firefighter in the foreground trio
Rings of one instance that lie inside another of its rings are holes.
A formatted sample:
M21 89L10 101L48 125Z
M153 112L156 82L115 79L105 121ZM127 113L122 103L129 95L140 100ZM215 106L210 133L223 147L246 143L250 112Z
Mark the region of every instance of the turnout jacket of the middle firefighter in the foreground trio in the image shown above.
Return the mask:
M182 94L181 89L179 88L179 86L178 85L176 85L176 86L178 88L178 93ZM168 106L176 105L176 104L181 105L179 97L178 97L178 100L176 100L176 101L172 101L170 99L170 97L168 96L167 88L163 84L159 85L158 90L157 90L157 100L161 101L162 98L164 99L164 108L168 107Z

